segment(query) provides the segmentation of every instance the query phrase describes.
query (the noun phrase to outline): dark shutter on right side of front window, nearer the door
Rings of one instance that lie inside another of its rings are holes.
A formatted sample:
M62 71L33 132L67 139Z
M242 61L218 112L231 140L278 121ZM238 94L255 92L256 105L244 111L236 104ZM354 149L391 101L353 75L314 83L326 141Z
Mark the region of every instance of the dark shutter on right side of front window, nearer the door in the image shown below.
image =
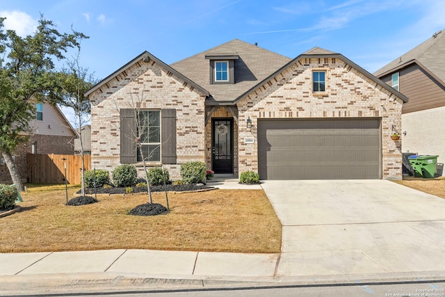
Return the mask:
M176 164L176 109L161 109L161 156L163 164Z

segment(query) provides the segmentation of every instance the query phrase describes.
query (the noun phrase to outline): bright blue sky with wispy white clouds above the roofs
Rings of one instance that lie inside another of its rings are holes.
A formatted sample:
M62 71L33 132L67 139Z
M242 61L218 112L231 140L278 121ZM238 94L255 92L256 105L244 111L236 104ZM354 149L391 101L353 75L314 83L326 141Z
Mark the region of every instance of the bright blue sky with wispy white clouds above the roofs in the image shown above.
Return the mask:
M372 73L445 29L443 0L1 0L19 35L40 14L90 36L81 65L97 79L145 50L170 64L234 38L290 58L323 47Z

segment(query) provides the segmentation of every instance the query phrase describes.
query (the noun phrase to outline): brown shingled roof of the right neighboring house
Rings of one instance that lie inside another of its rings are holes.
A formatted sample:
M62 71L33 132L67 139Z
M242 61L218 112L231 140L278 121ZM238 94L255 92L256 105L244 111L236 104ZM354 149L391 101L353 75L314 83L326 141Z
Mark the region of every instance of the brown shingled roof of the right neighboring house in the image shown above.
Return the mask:
M377 70L374 75L384 77L412 63L418 64L445 86L445 31L434 33L425 42Z

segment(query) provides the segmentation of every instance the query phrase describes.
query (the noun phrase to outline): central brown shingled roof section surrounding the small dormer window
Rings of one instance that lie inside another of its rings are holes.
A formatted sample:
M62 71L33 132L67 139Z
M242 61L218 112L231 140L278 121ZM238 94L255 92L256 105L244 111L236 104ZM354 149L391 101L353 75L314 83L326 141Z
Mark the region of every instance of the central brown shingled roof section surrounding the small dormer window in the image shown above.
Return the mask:
M233 84L211 84L209 78L209 58L234 58L235 81ZM291 58L276 54L238 39L213 47L200 54L178 61L170 66L188 77L202 88L209 90L207 101L230 104L259 81L268 77Z

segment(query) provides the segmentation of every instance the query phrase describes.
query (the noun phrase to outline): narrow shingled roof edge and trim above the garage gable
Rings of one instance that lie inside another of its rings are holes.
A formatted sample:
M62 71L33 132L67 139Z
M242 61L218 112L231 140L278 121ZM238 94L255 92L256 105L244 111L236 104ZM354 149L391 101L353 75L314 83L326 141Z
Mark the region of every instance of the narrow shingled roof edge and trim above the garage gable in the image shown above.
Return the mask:
M386 83L384 83L383 81L381 81L377 77L373 76L373 74L367 72L362 67L360 67L359 65L355 64L353 61L350 61L348 58L346 58L345 56L343 56L341 54L334 53L334 51L328 51L327 49L322 49L320 47L314 47L312 49L309 49L309 51L305 51L305 53L300 54L300 56L297 56L293 60L289 61L289 63L286 63L286 65L284 65L283 67L280 67L280 69L278 69L277 71L273 72L268 77L263 79L261 82L257 83L257 85L255 85L253 88L250 88L245 93L243 93L243 95L241 95L238 98L236 98L234 100L234 102L238 102L240 99L243 99L243 97L249 95L250 93L252 93L252 91L254 91L255 89L261 87L262 85L264 85L264 83L267 83L268 81L270 81L270 79L273 79L275 76L277 76L277 74L280 74L281 72L286 70L286 68L291 67L293 64L297 63L298 61L300 61L303 58L339 58L341 61L343 61L344 63L350 65L355 70L357 70L358 72L363 74L365 77L371 79L371 81L377 83L382 88L385 88L385 90L388 90L389 92L394 94L396 97L401 98L403 100L403 102L408 102L408 98L405 95L403 95L402 93L394 90L394 88L391 88Z

